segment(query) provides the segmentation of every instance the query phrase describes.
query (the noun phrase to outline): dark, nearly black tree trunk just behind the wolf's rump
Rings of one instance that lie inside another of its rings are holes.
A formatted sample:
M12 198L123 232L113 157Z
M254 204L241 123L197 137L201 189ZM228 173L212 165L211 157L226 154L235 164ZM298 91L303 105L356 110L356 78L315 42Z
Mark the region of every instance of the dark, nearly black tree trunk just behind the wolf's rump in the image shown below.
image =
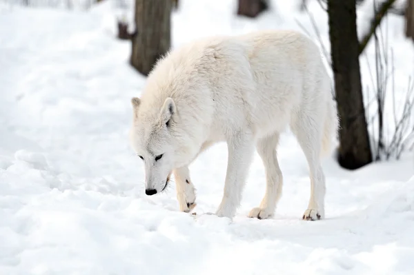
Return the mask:
M373 161L359 72L355 0L328 0L329 37L339 129L339 165L357 169Z

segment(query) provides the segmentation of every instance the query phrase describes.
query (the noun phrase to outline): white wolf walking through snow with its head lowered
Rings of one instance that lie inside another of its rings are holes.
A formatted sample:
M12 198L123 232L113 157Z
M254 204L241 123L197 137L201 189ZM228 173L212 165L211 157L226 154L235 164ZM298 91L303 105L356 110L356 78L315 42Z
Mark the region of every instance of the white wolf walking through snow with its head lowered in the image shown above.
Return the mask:
M130 141L144 161L147 195L164 191L173 173L180 210L192 210L188 165L224 141L228 165L215 214L235 215L256 149L266 170L266 193L248 216L271 217L282 195L277 143L290 125L311 179L302 218L324 217L320 159L336 136L337 112L319 48L299 32L267 30L183 45L157 62L132 108Z

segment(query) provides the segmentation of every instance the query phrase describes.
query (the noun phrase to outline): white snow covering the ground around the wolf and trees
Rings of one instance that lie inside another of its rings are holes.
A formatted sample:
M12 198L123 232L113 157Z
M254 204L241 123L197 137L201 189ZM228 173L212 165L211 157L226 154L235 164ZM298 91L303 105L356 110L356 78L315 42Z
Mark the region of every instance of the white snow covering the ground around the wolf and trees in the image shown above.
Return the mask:
M70 11L0 3L0 274L414 273L412 152L353 172L325 159L323 221L301 220L308 168L289 132L278 150L284 194L273 219L246 217L264 194L257 155L234 220L203 215L221 200L224 144L190 167L197 215L179 212L174 184L146 196L128 145L130 97L145 78L128 65L130 43L114 37L115 3ZM210 34L302 30L296 20L314 34L295 1L273 1L274 11L256 20L234 17L235 1L180 5L174 47ZM328 45L326 14L315 1L310 10ZM388 24L402 90L413 45L400 17ZM364 64L362 75L368 83Z

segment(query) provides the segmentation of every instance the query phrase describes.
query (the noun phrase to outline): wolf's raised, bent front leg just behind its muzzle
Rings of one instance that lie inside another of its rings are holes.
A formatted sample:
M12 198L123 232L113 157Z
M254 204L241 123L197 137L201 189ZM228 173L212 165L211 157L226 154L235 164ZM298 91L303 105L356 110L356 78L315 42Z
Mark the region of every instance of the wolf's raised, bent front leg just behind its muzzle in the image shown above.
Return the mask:
M195 188L190 180L190 171L187 166L172 171L175 176L179 210L190 212L195 207Z

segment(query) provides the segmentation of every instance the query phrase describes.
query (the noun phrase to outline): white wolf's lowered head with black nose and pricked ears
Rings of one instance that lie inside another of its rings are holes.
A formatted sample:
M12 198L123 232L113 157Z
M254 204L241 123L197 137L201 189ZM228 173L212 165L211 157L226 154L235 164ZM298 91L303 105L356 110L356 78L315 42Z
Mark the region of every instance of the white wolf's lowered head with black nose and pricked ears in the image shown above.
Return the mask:
M147 106L140 110L141 100L134 97L131 101L130 143L144 161L146 194L157 194L166 189L172 170L188 162L191 141L179 128L177 108L170 97L160 110Z

